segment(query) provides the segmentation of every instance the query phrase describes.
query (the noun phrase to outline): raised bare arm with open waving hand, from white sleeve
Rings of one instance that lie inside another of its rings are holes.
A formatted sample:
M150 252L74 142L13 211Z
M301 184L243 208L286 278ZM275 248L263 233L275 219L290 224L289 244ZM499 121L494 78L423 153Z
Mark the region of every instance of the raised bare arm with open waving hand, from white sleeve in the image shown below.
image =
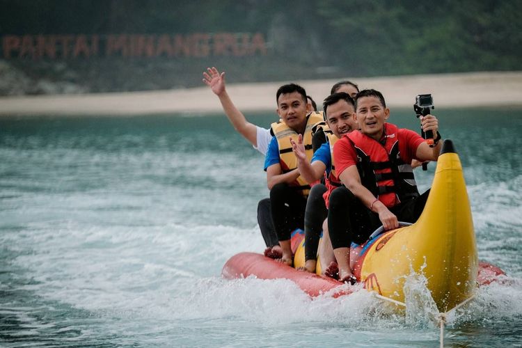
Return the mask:
M226 116L232 126L239 134L244 136L255 148L258 147L257 129L255 125L248 122L241 111L237 109L235 104L230 99L225 88L225 72L219 71L212 67L207 68L207 72L203 72L203 82L210 87L212 92L219 97L219 102L223 106Z

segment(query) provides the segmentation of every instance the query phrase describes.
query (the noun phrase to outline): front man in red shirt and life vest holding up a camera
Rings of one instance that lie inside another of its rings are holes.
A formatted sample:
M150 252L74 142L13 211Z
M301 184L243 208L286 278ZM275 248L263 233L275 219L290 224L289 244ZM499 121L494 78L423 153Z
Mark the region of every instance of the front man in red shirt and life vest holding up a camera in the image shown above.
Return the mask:
M380 225L390 230L399 227L399 220L415 222L429 194L419 195L411 161L438 159L438 120L420 117L422 129L436 134L431 147L416 132L386 122L389 116L379 91L361 90L356 96L360 130L343 136L333 148L335 170L345 187L331 193L328 228L343 282L356 282L349 266L351 242L365 242Z

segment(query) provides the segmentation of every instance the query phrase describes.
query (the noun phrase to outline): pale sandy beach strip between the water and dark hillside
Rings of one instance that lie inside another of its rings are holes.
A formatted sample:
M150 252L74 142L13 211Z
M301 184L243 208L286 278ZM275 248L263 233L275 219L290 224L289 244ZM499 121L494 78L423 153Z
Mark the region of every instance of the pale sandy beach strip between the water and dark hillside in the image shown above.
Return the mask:
M199 78L199 77L198 77ZM415 96L432 93L437 107L522 106L522 72L469 72L328 80L229 84L228 93L244 111L274 111L277 88L289 82L303 86L321 104L335 82L349 79L362 88L380 90L388 106L411 107ZM203 84L199 88L132 93L0 97L0 116L143 115L221 113L221 104Z

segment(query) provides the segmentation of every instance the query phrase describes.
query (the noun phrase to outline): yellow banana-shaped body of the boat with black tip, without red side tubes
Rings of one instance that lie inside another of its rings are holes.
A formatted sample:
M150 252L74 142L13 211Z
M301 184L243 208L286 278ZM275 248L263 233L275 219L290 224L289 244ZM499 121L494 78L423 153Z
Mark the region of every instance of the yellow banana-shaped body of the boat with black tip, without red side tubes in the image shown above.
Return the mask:
M451 141L445 141L438 157L432 189L418 221L378 235L359 250L354 275L367 290L381 296L404 303L405 276L412 272L427 278L442 312L473 296L478 271L475 231L461 162ZM303 251L301 242L296 267L304 264ZM320 274L320 266L317 271Z

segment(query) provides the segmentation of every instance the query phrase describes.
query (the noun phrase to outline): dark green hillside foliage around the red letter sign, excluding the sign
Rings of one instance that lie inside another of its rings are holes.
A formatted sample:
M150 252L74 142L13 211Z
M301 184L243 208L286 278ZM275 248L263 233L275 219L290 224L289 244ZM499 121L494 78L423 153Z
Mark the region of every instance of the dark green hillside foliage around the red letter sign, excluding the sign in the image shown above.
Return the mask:
M218 63L237 81L522 70L520 0L0 0L0 8L0 35L261 32L267 40L267 56L66 62L80 80L93 66L110 66L111 76L121 67L127 79L135 71L126 89L147 77L157 79L150 88L198 86L189 73ZM91 85L118 89L108 84Z

